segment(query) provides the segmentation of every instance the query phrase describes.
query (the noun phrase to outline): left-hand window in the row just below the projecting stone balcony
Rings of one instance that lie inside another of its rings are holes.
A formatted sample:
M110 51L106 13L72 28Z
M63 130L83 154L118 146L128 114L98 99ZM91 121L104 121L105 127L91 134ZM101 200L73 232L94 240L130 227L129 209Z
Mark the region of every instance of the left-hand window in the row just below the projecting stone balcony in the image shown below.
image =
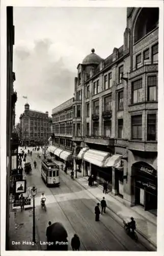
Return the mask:
M142 78L132 82L132 103L142 102Z

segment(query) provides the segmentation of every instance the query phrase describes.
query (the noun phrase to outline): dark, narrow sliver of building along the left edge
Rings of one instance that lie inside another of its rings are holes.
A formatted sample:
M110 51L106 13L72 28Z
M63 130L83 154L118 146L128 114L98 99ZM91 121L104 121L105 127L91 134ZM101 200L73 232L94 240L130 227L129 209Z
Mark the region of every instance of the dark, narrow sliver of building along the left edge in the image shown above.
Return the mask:
M17 170L17 153L19 143L18 136L14 130L15 102L17 101L17 93L13 88L13 82L15 81L15 73L13 72L13 45L13 7L7 7L6 250L9 249L10 180L12 172Z

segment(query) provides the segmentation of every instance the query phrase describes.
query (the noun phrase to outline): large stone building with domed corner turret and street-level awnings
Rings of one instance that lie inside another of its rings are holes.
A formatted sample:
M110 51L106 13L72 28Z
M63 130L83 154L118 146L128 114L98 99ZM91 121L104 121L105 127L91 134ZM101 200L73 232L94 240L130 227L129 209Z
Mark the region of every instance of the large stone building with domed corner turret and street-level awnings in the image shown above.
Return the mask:
M127 205L157 208L158 8L127 8L124 44L78 65L74 169L93 174ZM77 160L78 159L78 160Z

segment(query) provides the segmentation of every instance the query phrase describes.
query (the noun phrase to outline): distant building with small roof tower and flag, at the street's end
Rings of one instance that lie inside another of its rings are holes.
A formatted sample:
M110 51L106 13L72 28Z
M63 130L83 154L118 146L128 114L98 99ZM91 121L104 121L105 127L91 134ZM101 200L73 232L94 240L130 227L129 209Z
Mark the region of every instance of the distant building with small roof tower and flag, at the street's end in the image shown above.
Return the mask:
M44 145L50 137L51 118L45 113L30 110L30 105L24 105L24 113L20 115L21 145Z

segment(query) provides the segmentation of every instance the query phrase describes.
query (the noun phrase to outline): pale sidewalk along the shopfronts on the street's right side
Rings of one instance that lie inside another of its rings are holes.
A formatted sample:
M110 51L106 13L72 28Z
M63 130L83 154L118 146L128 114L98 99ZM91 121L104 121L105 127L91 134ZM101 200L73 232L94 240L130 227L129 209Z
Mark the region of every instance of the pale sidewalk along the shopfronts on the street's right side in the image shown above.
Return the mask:
M68 173L70 171L68 170ZM75 179L81 186L87 189L98 201L105 197L108 208L114 212L122 221L128 220L133 217L136 221L136 231L141 234L146 240L148 240L155 247L157 246L157 218L150 212L145 211L140 206L127 207L123 204L123 199L118 196L114 196L112 193L103 194L103 187L94 183L93 187L88 186L88 177L82 177L80 173L77 173L77 179Z

